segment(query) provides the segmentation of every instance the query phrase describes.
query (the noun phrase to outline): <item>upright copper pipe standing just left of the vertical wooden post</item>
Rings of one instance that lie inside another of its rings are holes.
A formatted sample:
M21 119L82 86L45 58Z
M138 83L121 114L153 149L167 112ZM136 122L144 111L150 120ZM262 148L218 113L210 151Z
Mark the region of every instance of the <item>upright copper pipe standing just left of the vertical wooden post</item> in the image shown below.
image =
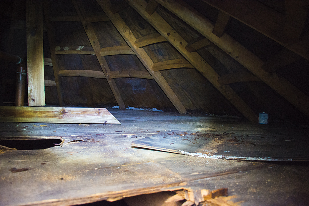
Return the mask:
M22 62L16 69L16 91L15 91L15 105L25 105L25 84L26 84L26 67Z

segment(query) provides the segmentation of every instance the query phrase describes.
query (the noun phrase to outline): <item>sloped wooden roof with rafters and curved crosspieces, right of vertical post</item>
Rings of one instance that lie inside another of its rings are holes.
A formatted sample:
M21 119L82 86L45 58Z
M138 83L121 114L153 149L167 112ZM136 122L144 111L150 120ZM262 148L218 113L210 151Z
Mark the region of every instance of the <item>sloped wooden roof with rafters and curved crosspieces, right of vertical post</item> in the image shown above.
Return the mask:
M309 5L291 2L43 1L46 103L307 124Z

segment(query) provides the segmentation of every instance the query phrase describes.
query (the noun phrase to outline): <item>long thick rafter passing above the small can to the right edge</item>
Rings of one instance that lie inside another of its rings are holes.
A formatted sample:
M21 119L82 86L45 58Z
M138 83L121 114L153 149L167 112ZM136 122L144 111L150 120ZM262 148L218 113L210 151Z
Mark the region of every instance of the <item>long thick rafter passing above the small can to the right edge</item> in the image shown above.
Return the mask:
M309 105L308 96L283 77L277 74L269 74L262 69L264 62L228 34L223 34L221 38L214 35L212 33L214 25L209 19L206 19L205 16L201 15L198 11L186 5L186 3L181 0L177 0L177 2L157 1L246 67L305 115L309 116L309 107L307 106ZM308 47L306 48L308 49Z

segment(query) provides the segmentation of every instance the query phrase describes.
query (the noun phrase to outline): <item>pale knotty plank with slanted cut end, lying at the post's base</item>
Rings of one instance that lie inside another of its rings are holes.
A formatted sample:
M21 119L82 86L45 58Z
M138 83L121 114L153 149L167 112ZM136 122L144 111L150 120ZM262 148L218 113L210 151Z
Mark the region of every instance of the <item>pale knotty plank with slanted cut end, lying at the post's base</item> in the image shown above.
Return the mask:
M120 124L105 108L1 106L2 122Z

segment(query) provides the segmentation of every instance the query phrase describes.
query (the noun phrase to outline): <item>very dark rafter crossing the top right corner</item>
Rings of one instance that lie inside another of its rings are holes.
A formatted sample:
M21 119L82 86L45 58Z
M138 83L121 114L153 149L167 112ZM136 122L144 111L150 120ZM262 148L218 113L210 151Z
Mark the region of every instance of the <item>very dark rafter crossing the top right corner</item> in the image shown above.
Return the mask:
M256 0L203 1L309 60L309 33L305 33L299 41L295 42L302 34L308 15L307 0L286 0L286 16ZM163 0L158 2L168 4Z

